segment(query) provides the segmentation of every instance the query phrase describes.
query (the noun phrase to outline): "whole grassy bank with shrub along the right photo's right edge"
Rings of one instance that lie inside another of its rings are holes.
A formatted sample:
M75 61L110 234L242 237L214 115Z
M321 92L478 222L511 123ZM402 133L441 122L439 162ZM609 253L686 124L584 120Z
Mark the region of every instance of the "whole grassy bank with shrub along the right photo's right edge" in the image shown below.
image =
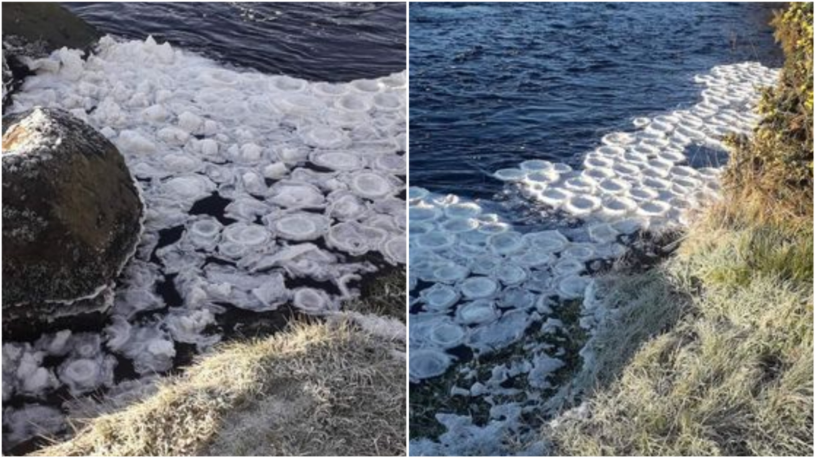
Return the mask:
M626 301L585 405L544 430L558 454L813 455L813 4L774 24L786 64L731 139L725 200L675 257L606 280Z

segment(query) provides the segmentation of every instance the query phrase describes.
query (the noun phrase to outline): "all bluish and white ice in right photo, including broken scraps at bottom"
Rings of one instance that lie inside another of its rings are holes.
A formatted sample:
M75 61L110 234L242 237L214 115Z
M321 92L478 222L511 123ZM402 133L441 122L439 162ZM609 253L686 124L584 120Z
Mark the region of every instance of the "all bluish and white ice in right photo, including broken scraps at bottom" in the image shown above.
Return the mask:
M592 291L596 267L625 254L641 232L687 225L694 210L720 196L721 169L690 156L724 150L724 135L750 133L759 120L752 111L758 88L777 74L755 63L713 68L694 78L704 86L698 104L636 118L634 130L603 136L580 169L529 160L496 171L555 217L552 229L522 231L490 212L489 202L408 189L411 382L445 374L458 355L489 355L515 343L524 350L520 360L495 366L489 379L460 364L455 371L464 377L455 379L472 386L454 386L450 395L486 400L490 421L477 426L468 415L437 413L447 432L439 441L412 441L411 455L506 454L497 439L519 434L522 416L561 408L566 387L553 386L552 373L565 364L565 349L524 338L565 333L559 308ZM596 303L583 309L597 316ZM527 390L508 389L510 378L523 378ZM541 389L555 395L543 398ZM540 444L530 448L543 453Z

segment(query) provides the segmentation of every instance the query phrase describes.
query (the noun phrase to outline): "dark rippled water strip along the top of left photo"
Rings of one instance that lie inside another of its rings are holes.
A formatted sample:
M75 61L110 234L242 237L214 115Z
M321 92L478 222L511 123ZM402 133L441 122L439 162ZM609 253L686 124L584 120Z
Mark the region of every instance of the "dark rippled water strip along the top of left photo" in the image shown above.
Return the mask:
M66 2L103 33L148 34L264 73L348 82L406 68L405 3Z

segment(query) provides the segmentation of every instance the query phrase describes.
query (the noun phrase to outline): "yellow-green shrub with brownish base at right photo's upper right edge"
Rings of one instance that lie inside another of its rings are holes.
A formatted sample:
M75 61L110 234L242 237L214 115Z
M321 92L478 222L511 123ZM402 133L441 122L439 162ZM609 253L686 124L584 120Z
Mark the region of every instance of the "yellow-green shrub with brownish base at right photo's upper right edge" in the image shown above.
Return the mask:
M759 199L778 217L813 216L814 6L791 3L777 12L775 36L785 52L776 87L765 90L763 120L752 138L728 139L732 161L725 183L738 196Z

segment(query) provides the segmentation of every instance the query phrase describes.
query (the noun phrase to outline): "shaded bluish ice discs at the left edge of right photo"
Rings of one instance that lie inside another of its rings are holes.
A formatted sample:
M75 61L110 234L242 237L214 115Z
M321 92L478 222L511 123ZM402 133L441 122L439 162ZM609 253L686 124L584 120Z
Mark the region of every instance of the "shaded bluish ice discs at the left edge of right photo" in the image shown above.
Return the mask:
M554 316L558 299L581 298L590 262L624 254L619 236L637 231L603 223L603 232L593 225L522 234L457 196L411 187L408 199L414 382L445 373L455 360L447 350L502 349Z

